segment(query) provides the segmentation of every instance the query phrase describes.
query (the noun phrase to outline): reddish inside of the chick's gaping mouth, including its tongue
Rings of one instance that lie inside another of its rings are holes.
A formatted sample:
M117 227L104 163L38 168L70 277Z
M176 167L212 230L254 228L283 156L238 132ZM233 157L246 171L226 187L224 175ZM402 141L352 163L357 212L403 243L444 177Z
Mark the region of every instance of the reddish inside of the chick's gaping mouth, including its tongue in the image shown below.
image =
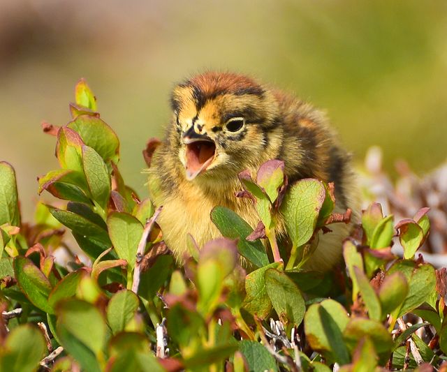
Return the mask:
M186 178L191 181L206 170L214 158L215 151L216 146L209 141L186 144Z

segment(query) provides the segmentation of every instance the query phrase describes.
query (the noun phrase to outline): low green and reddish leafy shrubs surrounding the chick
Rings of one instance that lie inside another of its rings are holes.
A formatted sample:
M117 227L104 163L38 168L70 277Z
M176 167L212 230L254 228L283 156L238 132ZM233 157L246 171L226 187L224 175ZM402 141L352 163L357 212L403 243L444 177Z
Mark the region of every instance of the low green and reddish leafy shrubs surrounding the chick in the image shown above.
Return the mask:
M343 243L346 266L308 271L318 236L350 211L333 213L333 185L288 185L272 160L255 177L240 174L257 228L216 207L223 238L200 250L191 239L178 267L159 210L125 184L119 140L96 110L81 80L72 120L45 126L60 168L38 178L39 193L68 202L40 202L33 224L20 221L14 170L0 163L2 371L374 371L446 359L446 271L415 259L427 209L395 225L372 203ZM404 258L391 251L394 237Z

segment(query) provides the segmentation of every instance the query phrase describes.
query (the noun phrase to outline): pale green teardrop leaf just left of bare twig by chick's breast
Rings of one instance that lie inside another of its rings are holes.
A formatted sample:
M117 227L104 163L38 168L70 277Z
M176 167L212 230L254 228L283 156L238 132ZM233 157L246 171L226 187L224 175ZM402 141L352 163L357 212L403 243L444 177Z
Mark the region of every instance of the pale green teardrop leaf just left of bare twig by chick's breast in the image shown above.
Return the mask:
M135 267L135 257L143 232L140 221L131 214L114 212L107 218L109 236L118 257L126 260L129 268Z

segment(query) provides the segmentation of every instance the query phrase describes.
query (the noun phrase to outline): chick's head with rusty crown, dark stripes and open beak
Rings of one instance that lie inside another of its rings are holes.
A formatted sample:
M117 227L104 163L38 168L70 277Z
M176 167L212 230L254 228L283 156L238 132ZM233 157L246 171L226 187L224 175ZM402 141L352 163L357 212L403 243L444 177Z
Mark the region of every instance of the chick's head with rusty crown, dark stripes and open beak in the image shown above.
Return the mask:
M170 145L187 180L256 166L277 126L268 89L243 75L204 73L175 87Z

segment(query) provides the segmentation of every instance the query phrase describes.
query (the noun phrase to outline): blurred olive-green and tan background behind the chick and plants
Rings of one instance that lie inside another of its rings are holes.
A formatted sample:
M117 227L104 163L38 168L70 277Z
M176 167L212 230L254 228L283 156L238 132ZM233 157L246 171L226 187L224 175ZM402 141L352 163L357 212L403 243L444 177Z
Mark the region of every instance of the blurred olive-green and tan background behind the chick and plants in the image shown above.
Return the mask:
M143 196L141 151L161 136L175 82L205 69L258 77L324 107L361 162L379 144L423 173L447 156L447 2L0 1L0 160L22 211L57 167L42 120L66 124L85 77Z

